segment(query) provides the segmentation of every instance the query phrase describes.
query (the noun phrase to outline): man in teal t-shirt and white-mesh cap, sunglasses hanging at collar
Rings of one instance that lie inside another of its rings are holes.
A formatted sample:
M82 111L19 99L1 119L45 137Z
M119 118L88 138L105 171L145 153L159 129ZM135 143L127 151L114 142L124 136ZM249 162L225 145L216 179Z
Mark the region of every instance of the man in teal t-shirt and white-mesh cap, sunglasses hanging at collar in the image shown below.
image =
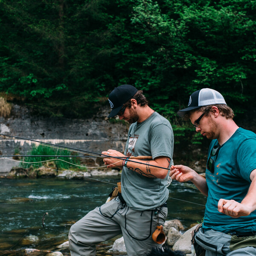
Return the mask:
M256 134L239 128L223 96L204 88L190 96L178 115L212 140L206 179L187 166L170 176L192 181L207 196L204 223L195 236L206 256L256 255Z

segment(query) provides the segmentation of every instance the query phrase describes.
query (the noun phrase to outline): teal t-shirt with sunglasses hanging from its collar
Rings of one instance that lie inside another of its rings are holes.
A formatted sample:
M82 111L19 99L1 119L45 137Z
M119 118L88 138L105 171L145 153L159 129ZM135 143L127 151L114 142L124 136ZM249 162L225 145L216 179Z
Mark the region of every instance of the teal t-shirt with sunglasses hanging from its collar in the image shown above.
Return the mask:
M212 140L208 158L214 145L218 145L218 140ZM214 165L214 173L206 169L209 190L203 228L224 233L256 231L256 211L239 218L218 212L219 199L233 199L241 203L248 192L250 173L256 169L256 134L238 128L221 145Z

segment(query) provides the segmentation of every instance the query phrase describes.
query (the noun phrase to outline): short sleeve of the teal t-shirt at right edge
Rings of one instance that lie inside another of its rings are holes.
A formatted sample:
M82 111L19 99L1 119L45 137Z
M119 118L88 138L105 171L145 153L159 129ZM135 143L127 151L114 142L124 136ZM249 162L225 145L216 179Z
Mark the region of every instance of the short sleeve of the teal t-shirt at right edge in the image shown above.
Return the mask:
M245 140L237 152L237 164L244 179L250 182L250 173L256 169L256 140Z

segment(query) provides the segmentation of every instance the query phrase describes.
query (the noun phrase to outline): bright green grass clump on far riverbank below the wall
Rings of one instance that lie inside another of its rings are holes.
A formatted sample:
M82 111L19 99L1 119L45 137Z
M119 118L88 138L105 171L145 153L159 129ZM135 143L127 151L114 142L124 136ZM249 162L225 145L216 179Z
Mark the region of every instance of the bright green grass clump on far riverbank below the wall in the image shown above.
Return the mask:
M79 166L74 166L73 164L80 165L80 159L79 157L39 157L45 156L45 155L63 155L63 156L70 156L70 155L77 155L74 154L73 152L69 150L64 150L64 149L58 149L58 148L52 148L49 146L45 145L38 145L38 146L33 146L31 151L28 153L28 155L38 155L38 157L23 157L23 162L38 162L30 164L30 163L20 163L20 166L23 168L29 168L32 166L33 168L38 168L38 166L49 166L49 160L55 158L58 160L52 160L51 163L55 163L56 169L57 170L62 170L62 169L79 169ZM48 160L48 161L47 161ZM69 163L67 163L69 162ZM71 164L70 164L71 163ZM80 167L81 168L81 167Z

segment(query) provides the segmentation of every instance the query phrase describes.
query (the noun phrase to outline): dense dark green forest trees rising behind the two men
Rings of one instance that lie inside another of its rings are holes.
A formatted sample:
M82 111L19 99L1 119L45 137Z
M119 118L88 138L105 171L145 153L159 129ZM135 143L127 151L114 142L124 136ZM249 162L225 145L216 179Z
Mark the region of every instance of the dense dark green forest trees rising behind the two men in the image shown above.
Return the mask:
M133 84L173 124L195 90L220 91L242 118L254 105L256 4L250 0L0 1L0 91L39 113L91 116Z

